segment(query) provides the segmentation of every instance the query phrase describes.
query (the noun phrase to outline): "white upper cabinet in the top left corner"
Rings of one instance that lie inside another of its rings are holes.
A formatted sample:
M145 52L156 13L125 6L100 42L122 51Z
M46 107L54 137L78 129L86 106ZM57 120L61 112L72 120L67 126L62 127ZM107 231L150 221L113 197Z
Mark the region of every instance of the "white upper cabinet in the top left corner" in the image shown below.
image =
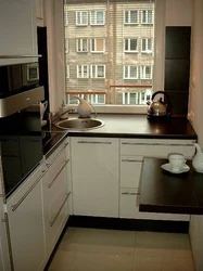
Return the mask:
M34 61L27 55L37 55L36 2L1 0L0 37L0 65Z

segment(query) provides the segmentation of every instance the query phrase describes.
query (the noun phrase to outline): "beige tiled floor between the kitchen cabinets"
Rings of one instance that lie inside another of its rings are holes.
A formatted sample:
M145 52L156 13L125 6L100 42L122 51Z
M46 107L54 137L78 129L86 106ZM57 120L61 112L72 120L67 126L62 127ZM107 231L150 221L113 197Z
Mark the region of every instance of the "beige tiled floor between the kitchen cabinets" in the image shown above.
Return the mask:
M194 271L187 234L68 228L49 271Z

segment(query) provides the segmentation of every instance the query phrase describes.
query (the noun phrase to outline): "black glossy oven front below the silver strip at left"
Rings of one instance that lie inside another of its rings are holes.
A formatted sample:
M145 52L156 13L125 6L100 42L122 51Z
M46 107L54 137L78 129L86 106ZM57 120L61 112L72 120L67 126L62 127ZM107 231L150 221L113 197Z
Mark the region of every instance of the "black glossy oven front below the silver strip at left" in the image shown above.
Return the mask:
M42 160L40 112L24 109L0 118L0 147L8 197Z

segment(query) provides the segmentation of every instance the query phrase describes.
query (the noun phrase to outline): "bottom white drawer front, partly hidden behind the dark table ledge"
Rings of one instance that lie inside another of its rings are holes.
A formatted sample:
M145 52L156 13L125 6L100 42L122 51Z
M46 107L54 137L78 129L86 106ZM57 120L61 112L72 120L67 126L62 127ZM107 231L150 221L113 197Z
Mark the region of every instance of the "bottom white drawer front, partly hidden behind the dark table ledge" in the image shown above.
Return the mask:
M135 189L120 190L119 218L190 221L190 215L139 211L139 192Z

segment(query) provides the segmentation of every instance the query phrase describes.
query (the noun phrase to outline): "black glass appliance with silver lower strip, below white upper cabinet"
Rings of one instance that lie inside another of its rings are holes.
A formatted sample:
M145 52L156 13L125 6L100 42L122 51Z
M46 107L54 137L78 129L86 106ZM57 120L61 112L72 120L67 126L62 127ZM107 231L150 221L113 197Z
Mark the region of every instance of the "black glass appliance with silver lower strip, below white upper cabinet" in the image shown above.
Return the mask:
M38 63L0 66L0 118L45 100Z

